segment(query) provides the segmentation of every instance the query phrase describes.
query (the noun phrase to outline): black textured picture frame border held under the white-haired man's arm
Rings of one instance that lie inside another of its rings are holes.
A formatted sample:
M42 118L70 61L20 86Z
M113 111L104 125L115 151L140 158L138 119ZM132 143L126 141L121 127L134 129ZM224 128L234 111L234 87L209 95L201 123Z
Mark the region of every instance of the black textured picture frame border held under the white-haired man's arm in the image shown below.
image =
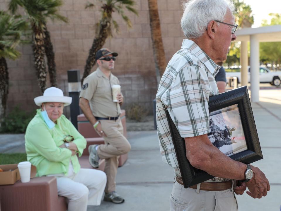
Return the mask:
M218 95L211 96L209 98L209 112L220 110L229 106L238 106L241 124L245 136L247 149L243 152L233 154L229 156L231 159L250 164L260 159L263 159L262 151L260 148L260 142L258 139L258 132L253 116L251 107L251 101L248 95L247 86L242 86L237 89L233 89ZM178 160L178 165L185 188L201 183L214 176L208 174L205 171L196 169L190 165L190 162L186 158L185 141L182 138L170 117L168 110L166 110L166 116L173 139L173 144Z

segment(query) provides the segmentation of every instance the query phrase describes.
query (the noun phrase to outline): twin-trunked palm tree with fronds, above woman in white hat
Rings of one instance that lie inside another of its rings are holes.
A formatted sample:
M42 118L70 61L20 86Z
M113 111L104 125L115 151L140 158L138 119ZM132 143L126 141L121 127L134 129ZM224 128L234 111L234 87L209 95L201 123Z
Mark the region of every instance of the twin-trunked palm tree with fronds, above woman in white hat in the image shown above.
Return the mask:
M48 60L50 82L52 86L57 86L55 54L53 51L50 33L47 31L47 18L67 22L67 18L61 16L58 7L62 6L62 0L11 0L9 10L15 13L18 6L24 8L30 21L32 36L32 48L36 76L39 87L43 92L46 89L46 64L45 55Z

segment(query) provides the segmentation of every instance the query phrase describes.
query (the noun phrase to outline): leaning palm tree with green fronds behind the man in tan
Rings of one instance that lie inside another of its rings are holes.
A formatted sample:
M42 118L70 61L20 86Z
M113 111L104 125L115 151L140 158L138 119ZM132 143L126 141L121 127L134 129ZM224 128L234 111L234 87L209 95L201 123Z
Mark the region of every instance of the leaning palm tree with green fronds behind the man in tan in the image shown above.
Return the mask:
M81 79L83 80L90 74L92 67L96 64L95 56L96 52L101 49L108 37L112 37L112 27L119 32L119 26L116 21L112 19L112 13L117 11L119 15L122 16L126 25L131 28L132 23L130 19L124 14L124 8L128 11L138 14L137 11L133 8L135 2L133 0L98 0L102 3L101 5L101 19L99 23L96 24L96 37L93 40L91 49L89 50L89 55L86 61L84 68L84 74ZM94 4L88 3L86 8L93 7Z

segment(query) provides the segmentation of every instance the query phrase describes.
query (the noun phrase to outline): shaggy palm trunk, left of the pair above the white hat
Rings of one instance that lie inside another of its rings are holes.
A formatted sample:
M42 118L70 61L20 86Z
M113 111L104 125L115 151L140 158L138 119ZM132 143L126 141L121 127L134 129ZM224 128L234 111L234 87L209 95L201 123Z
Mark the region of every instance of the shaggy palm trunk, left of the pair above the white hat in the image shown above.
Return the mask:
M35 27L33 27L33 56L34 56L34 65L35 65L35 71L36 76L38 79L38 85L42 91L42 93L46 89L46 64L45 64L45 47L44 47L44 33L41 31L36 30Z

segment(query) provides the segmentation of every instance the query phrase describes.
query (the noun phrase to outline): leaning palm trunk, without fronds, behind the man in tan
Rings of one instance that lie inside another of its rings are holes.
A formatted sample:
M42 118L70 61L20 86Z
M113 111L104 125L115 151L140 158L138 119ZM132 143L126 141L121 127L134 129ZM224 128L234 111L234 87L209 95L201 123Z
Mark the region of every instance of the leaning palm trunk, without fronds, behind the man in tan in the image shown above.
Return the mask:
M101 23L100 23L101 24ZM81 84L83 85L84 79L90 74L92 67L96 64L96 52L101 49L108 38L107 28L110 27L110 22L105 22L101 24L99 34L94 38L91 49L89 50L89 55L84 68L83 77L81 79Z

